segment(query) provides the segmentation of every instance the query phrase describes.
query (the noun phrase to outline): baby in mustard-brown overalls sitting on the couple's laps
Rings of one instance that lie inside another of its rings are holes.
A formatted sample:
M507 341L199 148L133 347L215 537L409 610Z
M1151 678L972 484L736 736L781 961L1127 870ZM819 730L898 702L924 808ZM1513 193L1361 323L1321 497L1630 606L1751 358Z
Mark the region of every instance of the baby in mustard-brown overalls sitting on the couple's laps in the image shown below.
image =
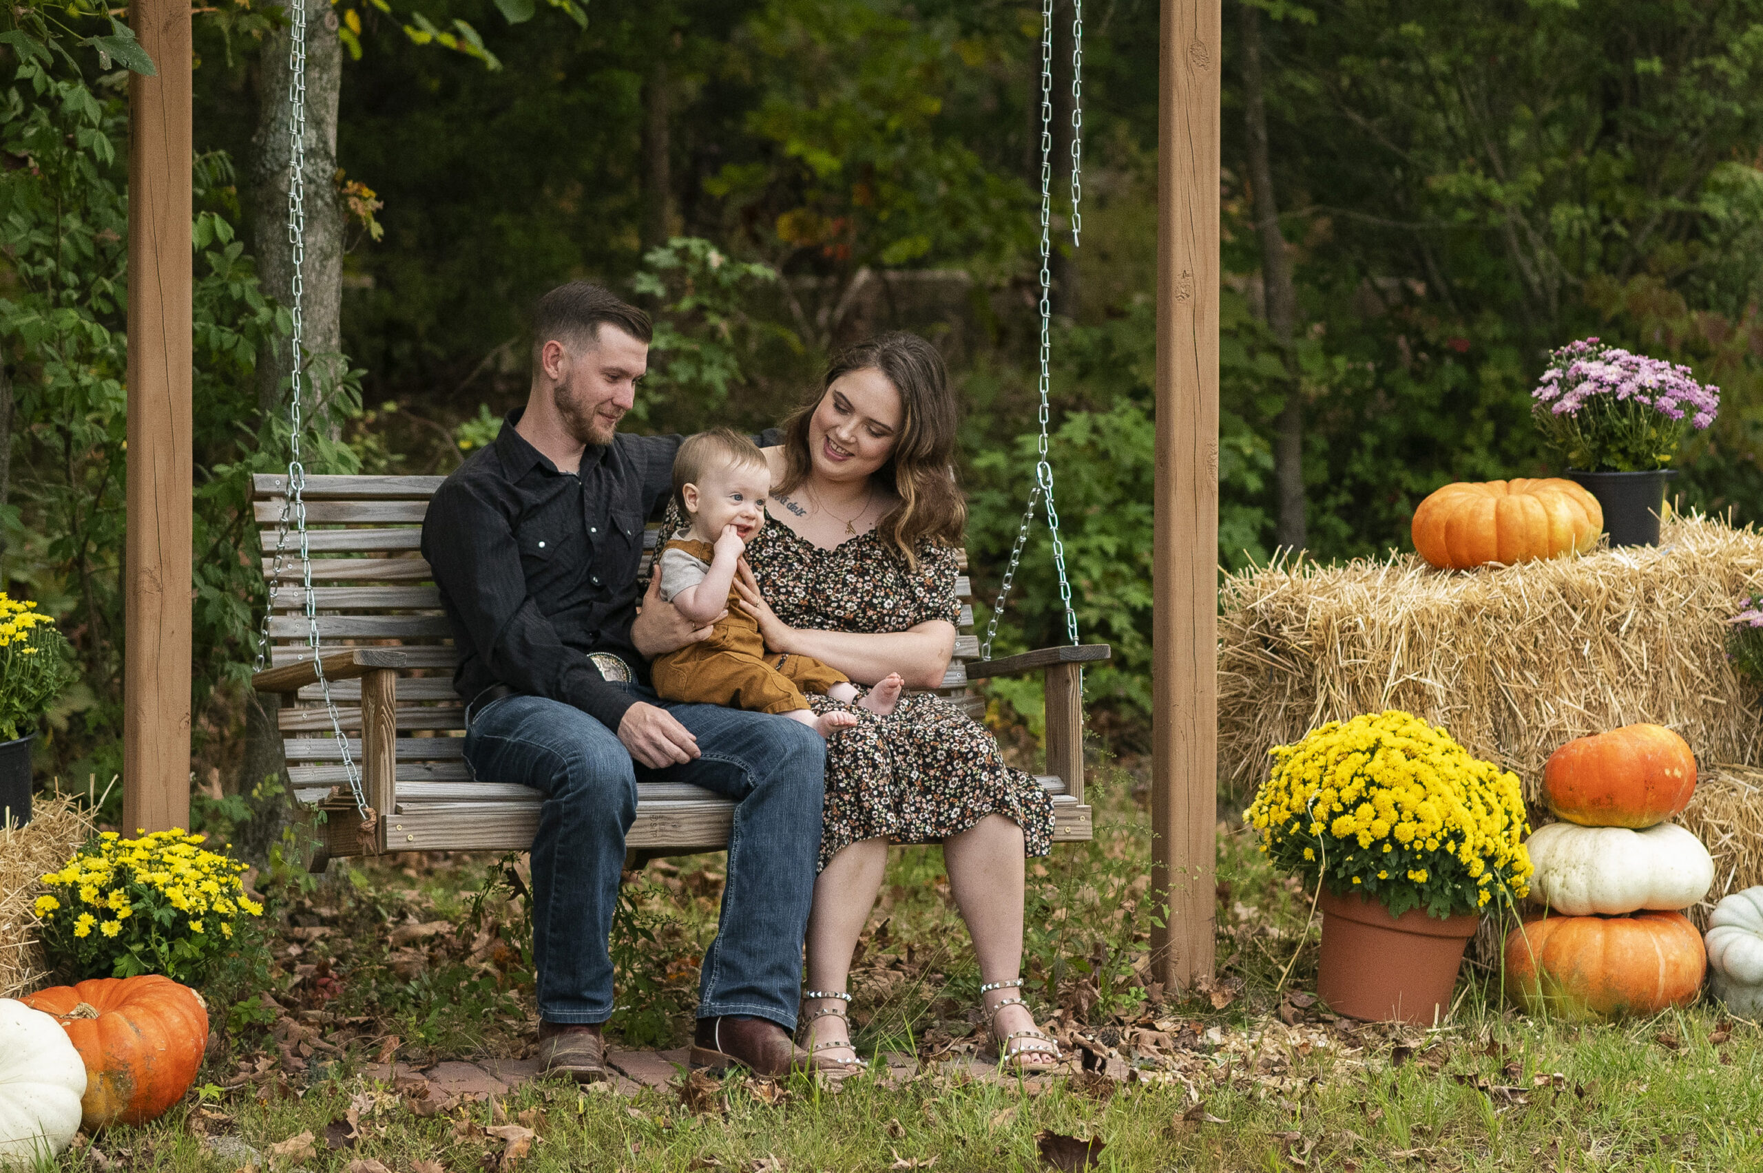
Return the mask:
M767 655L760 623L733 592L735 564L765 525L770 467L753 440L716 428L679 447L673 460L673 500L691 525L661 546L661 599L695 623L716 622L716 631L654 662L654 687L668 701L728 705L756 713L783 713L820 736L857 724L855 713L820 717L802 692L820 692L844 705L857 703L882 717L894 712L904 683L899 673L859 699L844 673L806 655Z

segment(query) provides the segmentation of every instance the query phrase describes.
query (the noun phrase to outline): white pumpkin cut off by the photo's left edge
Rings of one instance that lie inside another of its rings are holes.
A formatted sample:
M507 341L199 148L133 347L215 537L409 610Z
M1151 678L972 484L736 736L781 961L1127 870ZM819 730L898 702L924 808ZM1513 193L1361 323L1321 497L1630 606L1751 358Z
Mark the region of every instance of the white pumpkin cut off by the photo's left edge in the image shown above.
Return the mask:
M86 1064L62 1023L0 999L0 1168L60 1155L79 1131Z

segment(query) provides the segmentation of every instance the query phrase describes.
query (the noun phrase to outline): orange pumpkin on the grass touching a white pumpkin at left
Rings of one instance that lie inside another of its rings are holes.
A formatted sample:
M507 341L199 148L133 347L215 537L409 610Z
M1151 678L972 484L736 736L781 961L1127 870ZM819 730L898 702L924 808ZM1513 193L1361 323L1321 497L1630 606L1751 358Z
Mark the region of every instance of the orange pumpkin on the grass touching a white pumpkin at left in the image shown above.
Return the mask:
M208 1046L208 1007L169 978L93 978L23 1002L55 1014L86 1064L81 1124L145 1124L183 1099Z

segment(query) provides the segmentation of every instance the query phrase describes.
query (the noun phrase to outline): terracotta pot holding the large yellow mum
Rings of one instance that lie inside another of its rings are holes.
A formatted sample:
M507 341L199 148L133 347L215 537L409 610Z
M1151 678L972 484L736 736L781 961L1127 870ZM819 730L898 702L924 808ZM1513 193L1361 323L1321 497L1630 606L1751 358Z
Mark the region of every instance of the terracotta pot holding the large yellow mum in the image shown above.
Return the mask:
M1423 909L1389 916L1365 896L1322 889L1322 965L1317 997L1336 1014L1432 1025L1451 1011L1474 912L1437 919Z

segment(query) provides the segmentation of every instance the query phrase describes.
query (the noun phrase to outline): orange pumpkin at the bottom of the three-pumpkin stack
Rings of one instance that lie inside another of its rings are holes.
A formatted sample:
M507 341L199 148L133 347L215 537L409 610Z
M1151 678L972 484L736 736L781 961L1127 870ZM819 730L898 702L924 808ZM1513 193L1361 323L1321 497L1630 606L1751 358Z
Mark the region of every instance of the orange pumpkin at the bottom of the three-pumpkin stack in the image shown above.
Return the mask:
M1657 1014L1694 1002L1707 972L1682 912L1543 916L1506 937L1506 993L1530 1013Z

